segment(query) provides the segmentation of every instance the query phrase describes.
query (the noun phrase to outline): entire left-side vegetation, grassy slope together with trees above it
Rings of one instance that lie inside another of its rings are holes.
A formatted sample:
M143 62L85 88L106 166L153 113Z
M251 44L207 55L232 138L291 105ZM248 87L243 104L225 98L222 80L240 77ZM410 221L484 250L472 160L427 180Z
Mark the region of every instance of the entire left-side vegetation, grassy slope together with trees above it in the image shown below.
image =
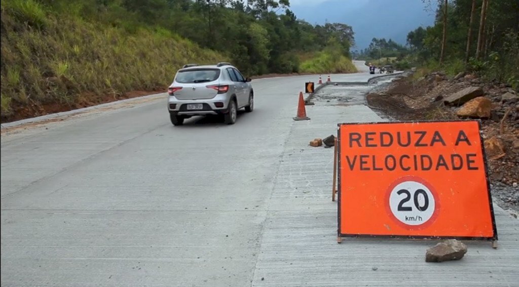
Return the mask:
M163 89L185 63L231 61L247 76L354 71L351 27L301 21L288 0L1 3L2 120L24 107Z

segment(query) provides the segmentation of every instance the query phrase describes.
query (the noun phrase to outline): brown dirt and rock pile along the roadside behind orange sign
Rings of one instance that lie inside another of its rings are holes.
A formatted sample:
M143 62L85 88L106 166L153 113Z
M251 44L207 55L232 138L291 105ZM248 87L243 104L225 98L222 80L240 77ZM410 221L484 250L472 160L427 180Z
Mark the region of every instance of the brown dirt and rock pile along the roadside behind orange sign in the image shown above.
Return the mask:
M446 104L445 99L454 93L471 90L467 88L473 88L472 91L481 88L482 96L491 102L490 116L481 118L485 142L492 140L497 142L494 146L498 147L498 152L494 154L489 155L487 151L490 181L513 191L500 198L517 209L519 207L517 185L519 184L519 95L517 91L505 84L485 82L474 75L458 75L452 78L442 73L432 73L417 80L409 76L394 81L384 91L368 94L366 100L370 107L396 120L459 120L461 117L457 112L470 97L464 98L458 105Z

